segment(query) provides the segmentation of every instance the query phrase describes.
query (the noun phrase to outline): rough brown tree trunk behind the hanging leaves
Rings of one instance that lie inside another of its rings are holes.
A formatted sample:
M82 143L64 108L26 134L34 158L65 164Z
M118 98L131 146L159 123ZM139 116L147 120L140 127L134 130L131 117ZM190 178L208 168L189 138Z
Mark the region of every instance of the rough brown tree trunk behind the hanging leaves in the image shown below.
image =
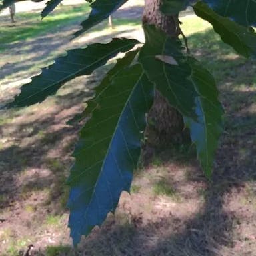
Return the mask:
M178 16L167 16L159 10L161 0L145 0L143 24L153 24L171 37L180 34ZM149 125L146 130L149 147L163 147L172 142L179 142L183 132L183 117L171 107L165 97L155 92L155 101L149 112Z

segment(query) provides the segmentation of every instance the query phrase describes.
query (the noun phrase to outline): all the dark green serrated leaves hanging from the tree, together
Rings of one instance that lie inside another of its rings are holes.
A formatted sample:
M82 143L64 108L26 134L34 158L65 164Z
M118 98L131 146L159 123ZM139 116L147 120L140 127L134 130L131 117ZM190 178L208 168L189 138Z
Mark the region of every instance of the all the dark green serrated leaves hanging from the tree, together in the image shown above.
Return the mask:
M41 1L41 0L37 0ZM95 0L91 13L75 37L103 21L127 0ZM2 0L1 9L13 3ZM45 17L61 2L50 0ZM209 21L221 39L245 57L256 55L255 0L163 0L165 15L177 15L191 5L195 14ZM185 53L174 39L152 25L144 25L145 43L135 39L113 39L67 51L65 57L42 70L21 87L21 93L6 107L24 107L45 100L67 81L89 75L118 53L113 69L95 89L79 119L87 121L73 153L75 164L68 180L69 227L75 244L107 213L115 211L121 191L129 191L133 169L139 159L145 130L145 114L151 108L155 89L183 115L197 157L207 177L211 175L217 141L222 131L223 109L211 73Z

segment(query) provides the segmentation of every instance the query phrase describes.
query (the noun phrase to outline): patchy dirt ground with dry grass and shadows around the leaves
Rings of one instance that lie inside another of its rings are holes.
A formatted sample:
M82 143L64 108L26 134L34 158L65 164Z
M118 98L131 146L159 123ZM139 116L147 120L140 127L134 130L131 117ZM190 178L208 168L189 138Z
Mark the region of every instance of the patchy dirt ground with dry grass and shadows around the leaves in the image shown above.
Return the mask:
M139 11L127 7L126 13L116 15L139 15ZM21 81L37 72L33 65L43 65L46 56L50 59L53 52L63 52L69 29L75 29L75 25L58 31L59 37L51 31L13 43L0 53L1 101L10 99ZM125 33L135 32L141 37L138 28L130 29ZM125 33L113 31L115 35ZM72 47L91 37L108 40L96 31L75 41ZM211 66L213 56L197 45L195 55L208 54L206 62ZM227 59L219 57L219 61L225 64ZM227 115L212 181L201 173L193 148L170 145L155 154L149 167L135 171L131 195L123 193L115 215L109 215L103 227L82 239L77 249L69 239L65 209L68 188L64 182L81 124L71 127L65 122L82 109L105 70L67 83L57 96L40 105L2 111L0 255L25 255L27 246L33 244L31 255L47 256L254 256L255 71L255 63L241 61L218 79ZM243 80L239 80L241 73ZM232 83L237 87L231 87Z

